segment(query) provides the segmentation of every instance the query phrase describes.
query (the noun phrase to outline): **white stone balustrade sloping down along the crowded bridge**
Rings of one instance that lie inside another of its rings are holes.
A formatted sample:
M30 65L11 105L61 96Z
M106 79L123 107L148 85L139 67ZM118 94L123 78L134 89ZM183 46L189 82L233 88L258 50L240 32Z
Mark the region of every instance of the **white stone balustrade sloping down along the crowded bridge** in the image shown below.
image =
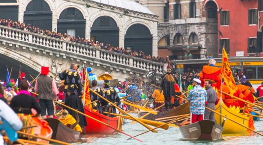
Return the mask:
M76 55L106 60L108 62L118 63L141 70L153 69L158 74L161 74L163 72L164 65L159 62L123 55L104 49L98 49L93 46L65 41L25 30L0 26L0 36L16 39L18 41L33 43L44 47L49 47L55 50L70 52Z

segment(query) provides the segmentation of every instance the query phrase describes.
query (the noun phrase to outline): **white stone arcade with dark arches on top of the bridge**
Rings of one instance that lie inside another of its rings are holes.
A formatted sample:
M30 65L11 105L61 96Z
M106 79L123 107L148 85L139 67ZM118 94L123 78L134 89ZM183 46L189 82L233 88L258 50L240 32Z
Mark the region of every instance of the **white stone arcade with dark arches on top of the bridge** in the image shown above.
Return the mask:
M158 16L131 0L0 0L0 16L157 55Z

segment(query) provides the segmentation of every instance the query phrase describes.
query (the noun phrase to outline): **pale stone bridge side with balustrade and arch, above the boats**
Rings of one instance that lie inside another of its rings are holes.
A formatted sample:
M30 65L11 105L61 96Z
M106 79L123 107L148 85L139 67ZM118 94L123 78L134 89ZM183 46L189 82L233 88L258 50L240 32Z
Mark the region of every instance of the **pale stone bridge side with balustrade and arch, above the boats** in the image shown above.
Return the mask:
M92 67L97 76L107 71L113 78L122 81L134 75L146 78L150 69L156 71L158 81L163 72L162 63L0 26L0 79L6 76L6 66L9 71L13 66L14 75L18 75L21 65L22 71L30 78L29 74L33 77L38 75L42 65L49 66L50 75L55 76L56 64L58 72L61 72L69 68L72 62Z

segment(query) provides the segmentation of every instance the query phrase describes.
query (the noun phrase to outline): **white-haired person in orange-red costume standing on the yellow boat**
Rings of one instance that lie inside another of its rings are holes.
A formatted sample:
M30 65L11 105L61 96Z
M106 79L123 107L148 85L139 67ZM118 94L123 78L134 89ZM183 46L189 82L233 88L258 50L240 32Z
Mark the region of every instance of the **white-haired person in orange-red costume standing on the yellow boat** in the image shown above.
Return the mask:
M201 86L204 87L206 80L212 81L212 87L220 89L221 86L221 68L215 67L216 60L210 59L209 65L203 66L203 70L199 74L199 80L201 80Z

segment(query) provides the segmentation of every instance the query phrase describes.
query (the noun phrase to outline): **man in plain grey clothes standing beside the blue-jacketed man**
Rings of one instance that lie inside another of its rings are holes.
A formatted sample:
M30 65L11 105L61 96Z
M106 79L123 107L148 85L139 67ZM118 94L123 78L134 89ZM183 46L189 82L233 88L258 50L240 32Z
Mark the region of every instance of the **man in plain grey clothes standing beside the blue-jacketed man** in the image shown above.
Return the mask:
M205 83L205 89L206 89L206 93L207 93L207 102L206 102L206 107L215 110L216 109L216 101L217 101L217 92L215 91L215 89L213 89L212 87L212 82L210 80L206 80ZM205 120L212 120L212 121L216 121L215 120L215 113L205 109L205 116L204 116Z

